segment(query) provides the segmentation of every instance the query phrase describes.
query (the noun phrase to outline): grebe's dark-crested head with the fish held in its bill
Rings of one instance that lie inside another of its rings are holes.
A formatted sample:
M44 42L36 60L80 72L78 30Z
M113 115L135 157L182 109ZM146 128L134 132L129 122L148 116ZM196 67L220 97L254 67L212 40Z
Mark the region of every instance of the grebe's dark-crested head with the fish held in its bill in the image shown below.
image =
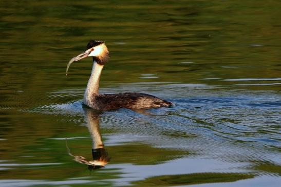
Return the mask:
M66 75L68 68L72 62L79 61L86 57L92 57L93 61L96 61L99 65L103 66L104 64L106 64L109 60L109 52L105 43L103 41L90 40L86 46L86 50L76 57L73 57L68 62L66 67Z

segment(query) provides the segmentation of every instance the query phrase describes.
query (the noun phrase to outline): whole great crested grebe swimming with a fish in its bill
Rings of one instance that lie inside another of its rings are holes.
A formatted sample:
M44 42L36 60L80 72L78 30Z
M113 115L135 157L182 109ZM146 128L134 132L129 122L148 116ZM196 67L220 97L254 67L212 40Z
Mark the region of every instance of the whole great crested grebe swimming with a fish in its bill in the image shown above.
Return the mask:
M66 68L72 62L86 57L92 57L93 66L91 76L84 94L83 103L96 110L114 110L119 108L148 109L162 106L172 106L171 102L162 100L152 95L137 92L126 92L120 94L99 94L99 82L103 66L109 60L109 52L103 41L90 40L85 52L72 58Z

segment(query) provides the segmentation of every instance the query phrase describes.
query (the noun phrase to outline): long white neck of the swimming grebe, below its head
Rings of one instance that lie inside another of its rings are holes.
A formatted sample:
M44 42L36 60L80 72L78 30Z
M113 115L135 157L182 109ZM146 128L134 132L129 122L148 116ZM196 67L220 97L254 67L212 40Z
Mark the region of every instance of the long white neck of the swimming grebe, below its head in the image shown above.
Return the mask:
M93 97L99 95L99 82L103 65L99 65L96 61L93 62L91 77L88 81L87 88L84 94L84 104L90 106Z

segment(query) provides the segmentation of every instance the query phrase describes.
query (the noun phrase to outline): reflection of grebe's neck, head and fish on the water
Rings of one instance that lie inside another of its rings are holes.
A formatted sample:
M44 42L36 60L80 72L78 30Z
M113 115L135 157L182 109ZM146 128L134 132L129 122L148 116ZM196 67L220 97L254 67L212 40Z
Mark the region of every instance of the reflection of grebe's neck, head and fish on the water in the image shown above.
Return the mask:
M85 120L87 122L87 127L92 139L92 160L87 160L83 156L73 155L68 147L67 139L65 140L65 143L68 155L74 157L74 161L82 164L87 164L88 169L91 171L104 167L110 161L110 158L108 157L107 151L104 148L102 136L100 133L99 120L101 112L88 107L83 107L83 109L85 111Z

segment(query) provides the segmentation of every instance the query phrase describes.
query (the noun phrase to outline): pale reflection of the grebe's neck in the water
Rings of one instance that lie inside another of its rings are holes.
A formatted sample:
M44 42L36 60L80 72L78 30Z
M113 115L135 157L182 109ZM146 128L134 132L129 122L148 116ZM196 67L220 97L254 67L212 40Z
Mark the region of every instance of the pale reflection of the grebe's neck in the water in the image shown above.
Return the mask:
M104 148L100 133L99 118L95 115L92 115L91 112L88 112L87 125L92 138L92 149Z

